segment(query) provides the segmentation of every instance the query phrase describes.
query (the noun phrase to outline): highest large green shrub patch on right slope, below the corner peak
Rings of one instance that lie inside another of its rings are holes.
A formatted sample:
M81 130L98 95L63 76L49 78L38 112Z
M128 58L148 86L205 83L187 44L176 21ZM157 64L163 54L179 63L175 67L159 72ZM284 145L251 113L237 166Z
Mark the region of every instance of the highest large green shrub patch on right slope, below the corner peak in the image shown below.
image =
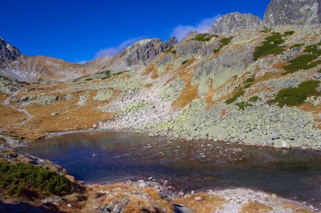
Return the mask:
M283 44L284 40L280 33L272 33L271 36L265 38L265 41L262 44L255 48L253 53L253 61L257 61L262 56L267 55L277 55L281 54L284 51L285 46L280 46Z

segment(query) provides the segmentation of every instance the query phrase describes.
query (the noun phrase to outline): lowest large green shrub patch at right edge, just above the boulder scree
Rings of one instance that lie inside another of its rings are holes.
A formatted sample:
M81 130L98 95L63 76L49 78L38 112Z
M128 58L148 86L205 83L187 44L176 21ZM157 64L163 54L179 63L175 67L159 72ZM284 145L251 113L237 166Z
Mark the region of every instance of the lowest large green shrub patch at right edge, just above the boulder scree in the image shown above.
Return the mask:
M304 103L304 100L310 96L319 96L320 92L316 91L319 81L305 81L295 88L285 88L275 96L274 103L279 103L279 106L299 106Z

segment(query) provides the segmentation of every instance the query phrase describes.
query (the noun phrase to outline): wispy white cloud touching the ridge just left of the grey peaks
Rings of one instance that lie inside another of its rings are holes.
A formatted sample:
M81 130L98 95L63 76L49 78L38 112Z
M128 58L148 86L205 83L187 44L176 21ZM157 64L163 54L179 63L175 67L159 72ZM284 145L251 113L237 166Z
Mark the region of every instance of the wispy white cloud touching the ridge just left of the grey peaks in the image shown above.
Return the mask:
M210 26L218 20L221 15L217 15L213 18L203 19L200 23L197 23L196 26L192 25L179 25L173 29L171 36L175 36L178 41L181 41L190 31L197 31L198 33L204 33L207 31Z

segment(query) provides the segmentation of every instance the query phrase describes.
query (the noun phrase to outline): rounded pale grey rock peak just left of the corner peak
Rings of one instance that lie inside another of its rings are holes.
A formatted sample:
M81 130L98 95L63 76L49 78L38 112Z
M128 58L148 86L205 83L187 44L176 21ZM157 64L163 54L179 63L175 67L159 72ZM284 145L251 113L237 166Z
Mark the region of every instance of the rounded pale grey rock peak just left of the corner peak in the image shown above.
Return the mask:
M261 25L261 19L253 14L240 14L238 12L222 16L212 24L208 33L227 34L244 28L255 28Z

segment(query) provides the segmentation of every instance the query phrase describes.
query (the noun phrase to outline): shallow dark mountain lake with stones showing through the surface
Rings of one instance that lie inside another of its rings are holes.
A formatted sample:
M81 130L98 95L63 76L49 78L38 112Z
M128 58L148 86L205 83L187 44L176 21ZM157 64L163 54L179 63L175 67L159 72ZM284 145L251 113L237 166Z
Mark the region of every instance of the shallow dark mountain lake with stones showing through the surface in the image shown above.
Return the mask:
M59 164L86 183L153 176L183 191L249 187L306 201L321 198L321 153L311 150L205 140L168 143L116 132L64 134L19 149Z

